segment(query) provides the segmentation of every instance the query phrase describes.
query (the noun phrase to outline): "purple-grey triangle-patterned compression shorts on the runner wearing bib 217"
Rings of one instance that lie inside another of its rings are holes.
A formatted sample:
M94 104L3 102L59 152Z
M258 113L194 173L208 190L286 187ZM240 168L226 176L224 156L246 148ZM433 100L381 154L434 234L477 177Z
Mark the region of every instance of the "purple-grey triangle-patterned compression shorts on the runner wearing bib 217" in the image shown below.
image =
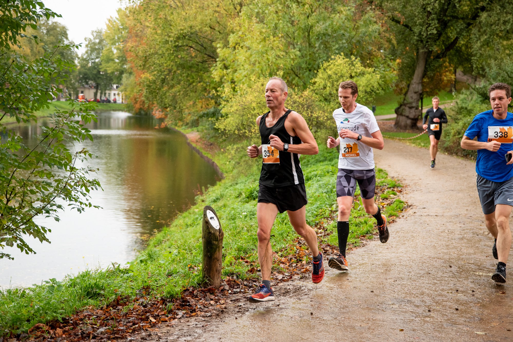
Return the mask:
M337 174L337 197L354 196L356 182L360 187L360 196L368 200L374 197L376 192L376 172L369 170L348 170L339 168Z

